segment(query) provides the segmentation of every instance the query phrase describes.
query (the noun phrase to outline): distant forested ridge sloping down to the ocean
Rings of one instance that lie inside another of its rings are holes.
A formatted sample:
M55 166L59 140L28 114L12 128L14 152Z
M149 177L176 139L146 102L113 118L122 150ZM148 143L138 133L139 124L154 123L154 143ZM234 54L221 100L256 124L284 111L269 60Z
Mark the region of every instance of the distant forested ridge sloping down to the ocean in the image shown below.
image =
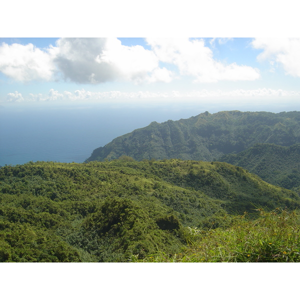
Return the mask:
M188 119L151 122L93 150L86 161L128 155L136 160L180 158L211 161L256 143L300 142L300 111L200 113Z

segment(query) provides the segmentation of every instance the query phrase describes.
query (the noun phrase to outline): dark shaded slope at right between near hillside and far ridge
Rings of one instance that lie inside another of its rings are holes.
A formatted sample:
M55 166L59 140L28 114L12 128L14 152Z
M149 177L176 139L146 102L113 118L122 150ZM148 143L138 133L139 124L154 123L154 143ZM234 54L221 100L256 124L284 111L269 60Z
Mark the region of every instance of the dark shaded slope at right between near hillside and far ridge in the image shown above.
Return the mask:
M271 184L300 191L300 144L256 144L218 160L246 168Z

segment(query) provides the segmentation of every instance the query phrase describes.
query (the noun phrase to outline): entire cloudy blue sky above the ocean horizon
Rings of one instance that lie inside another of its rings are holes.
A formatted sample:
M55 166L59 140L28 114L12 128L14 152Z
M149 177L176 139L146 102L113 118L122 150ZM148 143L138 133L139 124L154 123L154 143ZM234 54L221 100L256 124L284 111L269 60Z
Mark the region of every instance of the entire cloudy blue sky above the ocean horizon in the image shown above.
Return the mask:
M0 105L298 110L299 37L1 37Z

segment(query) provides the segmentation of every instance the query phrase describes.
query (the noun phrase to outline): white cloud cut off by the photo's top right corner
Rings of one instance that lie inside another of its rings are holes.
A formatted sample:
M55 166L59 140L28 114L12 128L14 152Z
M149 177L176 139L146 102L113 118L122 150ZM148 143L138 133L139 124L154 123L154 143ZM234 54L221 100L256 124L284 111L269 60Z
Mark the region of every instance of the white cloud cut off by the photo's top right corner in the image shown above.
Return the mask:
M300 76L300 38L255 38L251 44L263 50L257 59L269 60L271 71L274 71L275 61L282 65L286 74Z

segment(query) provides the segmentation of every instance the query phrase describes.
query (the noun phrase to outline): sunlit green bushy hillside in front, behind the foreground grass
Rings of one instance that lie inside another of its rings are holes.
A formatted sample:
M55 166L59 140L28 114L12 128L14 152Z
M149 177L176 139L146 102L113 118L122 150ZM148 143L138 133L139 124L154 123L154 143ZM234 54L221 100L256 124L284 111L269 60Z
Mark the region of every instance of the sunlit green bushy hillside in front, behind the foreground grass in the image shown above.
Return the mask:
M174 257L189 241L186 227L227 232L232 214L299 204L295 192L225 162L123 156L4 166L0 261Z

